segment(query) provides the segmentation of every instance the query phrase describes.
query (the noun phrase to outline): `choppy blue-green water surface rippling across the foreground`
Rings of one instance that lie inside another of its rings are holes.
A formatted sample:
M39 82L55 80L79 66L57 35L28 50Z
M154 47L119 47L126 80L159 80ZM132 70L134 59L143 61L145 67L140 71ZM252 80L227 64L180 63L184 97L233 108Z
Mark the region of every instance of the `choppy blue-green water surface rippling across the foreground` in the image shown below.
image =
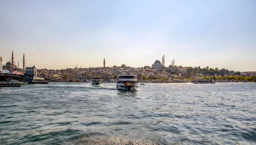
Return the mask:
M0 88L0 144L256 144L256 83Z

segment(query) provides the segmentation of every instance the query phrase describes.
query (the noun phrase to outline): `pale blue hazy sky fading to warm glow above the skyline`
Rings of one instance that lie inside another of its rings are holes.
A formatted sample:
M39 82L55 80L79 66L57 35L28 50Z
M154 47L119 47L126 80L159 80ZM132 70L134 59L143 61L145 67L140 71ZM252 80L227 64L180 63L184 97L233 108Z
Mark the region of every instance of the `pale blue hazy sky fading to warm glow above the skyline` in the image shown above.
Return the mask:
M256 71L256 0L0 0L4 64L12 50L20 67Z

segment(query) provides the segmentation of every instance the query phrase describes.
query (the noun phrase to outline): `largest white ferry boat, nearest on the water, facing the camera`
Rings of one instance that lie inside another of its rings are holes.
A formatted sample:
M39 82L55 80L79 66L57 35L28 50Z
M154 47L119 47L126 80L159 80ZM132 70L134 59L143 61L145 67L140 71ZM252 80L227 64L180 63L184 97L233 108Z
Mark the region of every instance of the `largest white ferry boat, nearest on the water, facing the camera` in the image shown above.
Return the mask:
M117 89L122 90L137 90L137 75L119 75L116 84Z

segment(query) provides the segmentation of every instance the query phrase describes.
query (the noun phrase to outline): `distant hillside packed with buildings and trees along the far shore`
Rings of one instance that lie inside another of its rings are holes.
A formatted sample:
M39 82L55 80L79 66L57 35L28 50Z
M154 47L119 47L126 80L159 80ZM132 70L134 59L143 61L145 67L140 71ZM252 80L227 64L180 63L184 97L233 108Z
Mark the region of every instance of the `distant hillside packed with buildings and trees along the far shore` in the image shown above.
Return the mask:
M72 79L91 79L101 77L113 80L118 75L137 75L139 80L170 80L170 79L196 79L198 76L211 79L227 79L230 81L256 81L256 72L238 72L218 68L169 66L162 69L151 69L148 66L134 68L122 66L95 67L95 68L67 68L63 70L38 69L37 75L45 78L54 78L57 81Z

